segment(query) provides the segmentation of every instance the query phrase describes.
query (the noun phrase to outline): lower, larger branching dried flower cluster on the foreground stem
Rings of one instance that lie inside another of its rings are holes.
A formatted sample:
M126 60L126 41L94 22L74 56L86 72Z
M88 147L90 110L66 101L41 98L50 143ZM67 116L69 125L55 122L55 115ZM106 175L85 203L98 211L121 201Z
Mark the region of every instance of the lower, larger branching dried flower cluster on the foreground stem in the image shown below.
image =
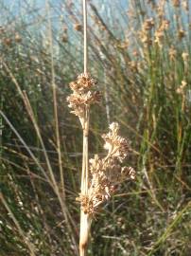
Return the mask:
M118 135L118 131L118 123L113 122L110 125L110 132L102 136L108 154L103 158L95 155L90 159L91 180L88 193L80 194L78 197L81 208L86 214L95 214L99 205L111 197L118 184L135 178L133 168L121 166L130 152L130 144L127 139Z

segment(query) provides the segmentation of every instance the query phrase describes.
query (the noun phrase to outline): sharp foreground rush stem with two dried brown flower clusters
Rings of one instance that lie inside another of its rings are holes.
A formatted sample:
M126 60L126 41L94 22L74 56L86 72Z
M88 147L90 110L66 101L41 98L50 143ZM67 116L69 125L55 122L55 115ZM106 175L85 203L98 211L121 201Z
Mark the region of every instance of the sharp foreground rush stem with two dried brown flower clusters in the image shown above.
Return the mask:
M73 93L67 98L71 112L80 120L83 130L83 155L81 171L81 188L77 200L80 202L79 254L86 255L91 223L98 207L108 200L117 184L134 179L135 172L131 167L122 167L122 162L130 151L129 141L119 136L119 125L113 122L110 132L103 135L108 154L100 158L95 155L89 160L88 135L90 106L100 101L100 92L96 90L96 80L87 72L87 7L83 0L84 17L84 73L77 81L70 83Z

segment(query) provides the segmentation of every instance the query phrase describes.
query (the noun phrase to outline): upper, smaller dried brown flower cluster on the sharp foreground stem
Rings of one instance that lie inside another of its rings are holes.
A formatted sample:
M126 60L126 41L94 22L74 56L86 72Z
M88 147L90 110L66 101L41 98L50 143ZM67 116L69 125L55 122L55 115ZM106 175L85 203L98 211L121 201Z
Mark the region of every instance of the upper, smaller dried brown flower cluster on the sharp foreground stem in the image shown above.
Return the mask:
M90 74L80 74L77 81L70 82L73 93L67 98L71 113L78 116L81 123L85 119L85 111L90 105L100 100L99 91L93 90L96 80Z

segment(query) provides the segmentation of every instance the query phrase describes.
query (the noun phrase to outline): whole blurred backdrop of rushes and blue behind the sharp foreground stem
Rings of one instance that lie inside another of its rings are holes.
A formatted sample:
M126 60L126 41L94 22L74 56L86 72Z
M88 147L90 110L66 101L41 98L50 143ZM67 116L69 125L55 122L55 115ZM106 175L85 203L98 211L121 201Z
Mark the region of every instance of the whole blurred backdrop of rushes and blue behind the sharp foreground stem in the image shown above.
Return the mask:
M88 255L191 255L191 2L92 0L102 101L90 152L118 121L137 172L96 215ZM78 255L81 2L0 0L0 255Z

